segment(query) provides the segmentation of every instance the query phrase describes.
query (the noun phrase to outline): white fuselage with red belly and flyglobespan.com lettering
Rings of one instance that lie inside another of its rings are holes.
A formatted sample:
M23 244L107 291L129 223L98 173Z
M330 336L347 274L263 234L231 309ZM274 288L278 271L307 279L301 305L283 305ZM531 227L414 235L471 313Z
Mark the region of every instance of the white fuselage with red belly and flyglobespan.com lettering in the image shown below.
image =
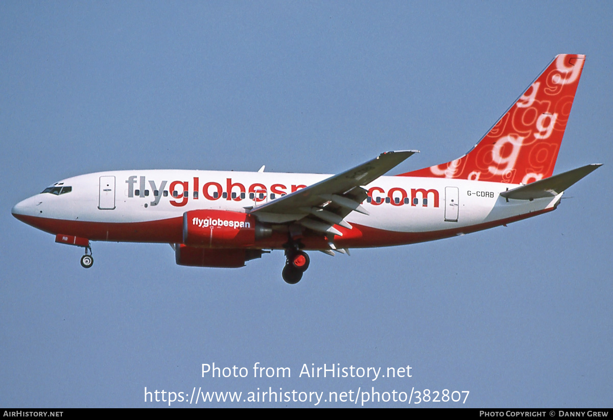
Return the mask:
M245 212L282 195L329 178L327 174L196 170L133 170L85 174L59 181L69 192L40 193L21 201L13 214L54 234L91 240L181 242L186 211ZM506 200L500 193L517 187L463 179L381 176L364 186L368 216L351 212L352 229L340 228L338 247L373 247L446 238L525 219L557 206L550 198ZM425 200L424 200L425 199ZM267 222L268 220L264 220ZM282 236L257 247L283 246ZM308 241L306 249L322 249Z

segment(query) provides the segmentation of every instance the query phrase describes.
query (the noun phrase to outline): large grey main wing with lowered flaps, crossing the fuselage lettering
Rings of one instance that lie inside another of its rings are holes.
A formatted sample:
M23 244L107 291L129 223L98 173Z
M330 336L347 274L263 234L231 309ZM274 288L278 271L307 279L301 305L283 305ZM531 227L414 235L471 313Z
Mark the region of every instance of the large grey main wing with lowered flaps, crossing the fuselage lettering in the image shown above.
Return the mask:
M297 221L311 230L342 236L334 225L351 228L344 219L352 211L368 212L360 206L367 197L362 188L418 151L386 152L357 167L330 176L276 200L248 209L262 222Z

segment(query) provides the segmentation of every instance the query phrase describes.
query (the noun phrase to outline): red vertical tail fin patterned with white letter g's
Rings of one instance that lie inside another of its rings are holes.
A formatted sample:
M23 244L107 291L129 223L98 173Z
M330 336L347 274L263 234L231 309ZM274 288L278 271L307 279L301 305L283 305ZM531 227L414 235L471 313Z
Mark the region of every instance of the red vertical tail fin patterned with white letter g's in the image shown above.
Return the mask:
M554 172L585 56L560 54L474 148L401 176L528 184Z

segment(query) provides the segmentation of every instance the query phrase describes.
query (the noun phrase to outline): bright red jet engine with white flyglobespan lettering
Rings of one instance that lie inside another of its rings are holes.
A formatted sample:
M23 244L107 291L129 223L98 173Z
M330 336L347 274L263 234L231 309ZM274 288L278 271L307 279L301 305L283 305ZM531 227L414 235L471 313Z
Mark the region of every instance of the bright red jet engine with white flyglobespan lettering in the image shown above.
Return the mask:
M242 248L267 238L272 229L254 216L227 210L192 210L183 213L183 244L208 248Z

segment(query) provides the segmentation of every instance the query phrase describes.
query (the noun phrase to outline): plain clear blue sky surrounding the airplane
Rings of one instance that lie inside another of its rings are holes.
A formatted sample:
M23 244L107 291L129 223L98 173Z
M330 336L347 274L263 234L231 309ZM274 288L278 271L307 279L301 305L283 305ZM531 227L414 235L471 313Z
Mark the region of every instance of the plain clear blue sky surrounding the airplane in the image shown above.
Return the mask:
M470 391L464 405L421 407L611 407L612 12L607 2L4 2L0 406L164 406L143 402L145 387L374 386ZM587 60L555 172L604 166L557 211L508 227L311 253L291 287L281 252L197 269L175 265L167 244L95 242L86 271L80 250L10 214L59 179L101 170L338 173L394 149L421 154L393 173L447 162L558 53ZM213 362L251 375L203 378ZM253 378L256 362L292 377ZM313 363L410 365L412 377L300 378Z

